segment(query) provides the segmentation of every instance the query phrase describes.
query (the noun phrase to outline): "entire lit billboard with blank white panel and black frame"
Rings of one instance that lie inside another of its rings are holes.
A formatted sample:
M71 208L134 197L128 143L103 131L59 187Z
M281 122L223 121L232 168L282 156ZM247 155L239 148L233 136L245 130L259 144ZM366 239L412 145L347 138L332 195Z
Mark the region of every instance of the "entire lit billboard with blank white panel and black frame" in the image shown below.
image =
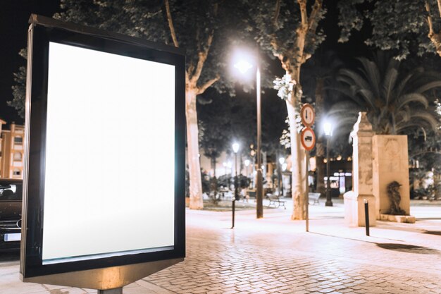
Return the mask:
M182 262L185 52L36 15L27 48L20 278L120 294Z

